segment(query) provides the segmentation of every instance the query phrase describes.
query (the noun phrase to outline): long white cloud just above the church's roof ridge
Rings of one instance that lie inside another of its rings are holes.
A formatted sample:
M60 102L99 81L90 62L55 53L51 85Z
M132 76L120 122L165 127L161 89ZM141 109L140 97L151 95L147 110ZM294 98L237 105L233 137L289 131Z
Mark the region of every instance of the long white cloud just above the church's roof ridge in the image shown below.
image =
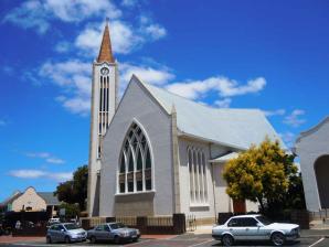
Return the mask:
M253 94L261 92L266 85L263 77L250 79L246 85L240 85L236 80L223 76L210 77L204 80L173 83L167 89L185 98L197 99L211 90L215 90L222 97Z

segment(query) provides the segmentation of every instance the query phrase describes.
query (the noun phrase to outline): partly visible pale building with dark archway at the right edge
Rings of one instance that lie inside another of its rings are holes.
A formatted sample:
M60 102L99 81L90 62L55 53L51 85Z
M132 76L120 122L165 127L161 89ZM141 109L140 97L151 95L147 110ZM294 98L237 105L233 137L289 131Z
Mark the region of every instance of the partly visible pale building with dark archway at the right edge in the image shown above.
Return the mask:
M307 210L329 208L329 117L300 133L295 152L300 158Z

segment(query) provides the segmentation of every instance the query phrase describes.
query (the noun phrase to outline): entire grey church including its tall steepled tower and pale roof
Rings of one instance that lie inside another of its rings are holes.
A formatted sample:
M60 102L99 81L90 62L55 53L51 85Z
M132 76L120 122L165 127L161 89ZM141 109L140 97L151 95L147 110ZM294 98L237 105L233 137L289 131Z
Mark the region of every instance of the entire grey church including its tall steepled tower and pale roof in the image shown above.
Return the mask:
M279 140L263 111L208 107L137 76L116 107L117 67L104 45L110 45L107 25L94 63L89 215L214 218L257 211L255 203L230 200L222 172L227 160L266 136Z

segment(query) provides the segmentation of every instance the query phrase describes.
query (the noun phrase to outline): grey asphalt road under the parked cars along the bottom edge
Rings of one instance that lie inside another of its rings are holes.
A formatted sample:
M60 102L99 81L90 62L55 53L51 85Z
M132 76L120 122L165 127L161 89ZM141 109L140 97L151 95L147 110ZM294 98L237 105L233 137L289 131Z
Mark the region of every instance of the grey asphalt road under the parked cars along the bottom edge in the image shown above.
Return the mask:
M60 246L93 246L88 241L86 243L75 243L75 244L52 244L47 245L45 241L26 241L26 243L15 243L15 244L7 244L7 245L0 245L0 246L45 246L45 247L60 247ZM220 241L213 240L210 235L180 235L170 239L140 239L138 243L131 243L126 245L114 245L112 243L103 243L97 244L95 246L126 246L126 247L148 247L148 246L157 246L157 247L210 247L210 246L222 246ZM270 243L236 243L234 245L235 247L245 247L245 246L255 246L255 247L268 247L273 246ZM291 246L291 247L328 247L329 246L329 238L322 238L318 236L308 236L308 237L301 237L298 241L287 243L285 246Z

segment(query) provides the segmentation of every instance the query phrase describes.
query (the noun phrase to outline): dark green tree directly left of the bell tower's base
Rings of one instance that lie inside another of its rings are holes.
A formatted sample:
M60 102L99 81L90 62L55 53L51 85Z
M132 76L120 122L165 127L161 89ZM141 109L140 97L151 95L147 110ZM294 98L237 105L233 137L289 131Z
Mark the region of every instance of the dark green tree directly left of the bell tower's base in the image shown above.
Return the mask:
M54 192L61 202L77 203L81 211L85 210L87 198L88 167L77 168L73 173L73 180L60 183Z

